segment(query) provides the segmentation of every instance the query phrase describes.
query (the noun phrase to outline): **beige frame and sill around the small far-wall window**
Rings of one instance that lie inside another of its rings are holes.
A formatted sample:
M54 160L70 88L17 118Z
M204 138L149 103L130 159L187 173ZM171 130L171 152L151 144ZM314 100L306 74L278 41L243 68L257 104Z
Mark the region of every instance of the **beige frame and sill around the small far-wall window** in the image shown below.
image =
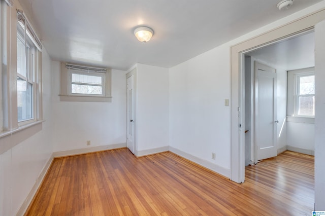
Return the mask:
M73 66L70 67L69 65ZM101 76L103 81L102 95L72 93L72 74ZM61 62L59 97L60 101L112 102L111 70L109 68Z

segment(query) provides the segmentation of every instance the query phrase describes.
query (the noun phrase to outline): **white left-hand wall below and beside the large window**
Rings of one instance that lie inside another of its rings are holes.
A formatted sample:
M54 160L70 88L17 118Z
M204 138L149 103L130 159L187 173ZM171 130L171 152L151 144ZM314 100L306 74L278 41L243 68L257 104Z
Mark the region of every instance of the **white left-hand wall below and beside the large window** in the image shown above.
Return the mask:
M38 177L52 159L51 61L45 48L42 73L45 122L0 138L0 215L24 212L34 195L30 191L38 186ZM2 153L1 149L6 147L9 149Z

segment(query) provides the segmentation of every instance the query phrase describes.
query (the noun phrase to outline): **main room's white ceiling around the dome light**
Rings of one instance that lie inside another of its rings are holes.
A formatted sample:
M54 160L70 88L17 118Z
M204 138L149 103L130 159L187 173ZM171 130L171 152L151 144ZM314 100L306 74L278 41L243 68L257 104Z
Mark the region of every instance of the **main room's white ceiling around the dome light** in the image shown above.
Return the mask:
M322 0L20 0L54 60L171 67ZM143 45L133 31L154 30Z

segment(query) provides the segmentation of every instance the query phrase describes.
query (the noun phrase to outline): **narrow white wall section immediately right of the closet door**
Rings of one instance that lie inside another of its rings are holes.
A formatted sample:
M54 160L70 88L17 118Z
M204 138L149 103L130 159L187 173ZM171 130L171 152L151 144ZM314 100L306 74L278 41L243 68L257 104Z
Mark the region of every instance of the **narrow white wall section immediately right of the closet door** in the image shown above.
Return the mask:
M137 64L137 156L169 146L169 70Z

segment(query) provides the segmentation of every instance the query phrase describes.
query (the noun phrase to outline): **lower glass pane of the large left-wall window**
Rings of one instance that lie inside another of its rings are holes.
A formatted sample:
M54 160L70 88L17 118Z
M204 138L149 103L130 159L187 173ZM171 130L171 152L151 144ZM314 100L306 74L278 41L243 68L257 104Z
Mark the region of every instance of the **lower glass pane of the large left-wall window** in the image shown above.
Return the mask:
M31 119L32 116L32 84L17 77L17 108L18 108L18 121Z

